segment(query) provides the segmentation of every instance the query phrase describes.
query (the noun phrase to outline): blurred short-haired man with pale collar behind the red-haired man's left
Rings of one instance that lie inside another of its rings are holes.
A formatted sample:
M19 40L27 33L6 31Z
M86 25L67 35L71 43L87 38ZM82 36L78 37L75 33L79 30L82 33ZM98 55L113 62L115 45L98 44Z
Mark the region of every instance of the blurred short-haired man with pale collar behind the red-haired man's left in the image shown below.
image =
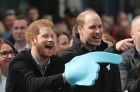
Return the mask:
M25 39L28 21L24 16L17 16L13 21L12 36L14 38L14 46L18 52L29 49L29 45Z

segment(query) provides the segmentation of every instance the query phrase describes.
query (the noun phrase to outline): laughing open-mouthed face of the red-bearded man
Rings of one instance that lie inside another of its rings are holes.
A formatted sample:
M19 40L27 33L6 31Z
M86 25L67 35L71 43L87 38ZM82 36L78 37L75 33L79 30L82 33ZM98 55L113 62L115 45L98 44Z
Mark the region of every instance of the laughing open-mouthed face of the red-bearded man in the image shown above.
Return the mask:
M50 57L54 52L55 33L48 26L41 26L40 33L37 36L36 48L39 56Z

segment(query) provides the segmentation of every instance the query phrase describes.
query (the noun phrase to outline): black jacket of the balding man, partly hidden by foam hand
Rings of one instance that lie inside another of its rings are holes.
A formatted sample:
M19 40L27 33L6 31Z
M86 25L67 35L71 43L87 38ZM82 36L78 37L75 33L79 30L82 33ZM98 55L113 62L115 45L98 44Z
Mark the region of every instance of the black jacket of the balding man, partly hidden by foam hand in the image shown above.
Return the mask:
M96 50L90 50L84 46L78 39L74 41L71 48L66 50L61 58L64 63L70 61L77 55L82 55L88 52L104 51L108 45L102 41L101 45ZM114 51L112 48L108 49ZM73 92L121 92L121 82L118 65L100 64L99 78L93 86L74 86Z

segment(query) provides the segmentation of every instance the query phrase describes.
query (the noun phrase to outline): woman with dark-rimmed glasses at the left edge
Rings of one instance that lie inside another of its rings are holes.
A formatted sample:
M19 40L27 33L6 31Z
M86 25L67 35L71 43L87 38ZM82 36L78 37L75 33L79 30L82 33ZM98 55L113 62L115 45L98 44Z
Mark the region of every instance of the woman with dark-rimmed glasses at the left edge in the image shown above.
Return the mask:
M17 51L6 39L0 38L0 92L5 92L6 77L9 63L16 56Z

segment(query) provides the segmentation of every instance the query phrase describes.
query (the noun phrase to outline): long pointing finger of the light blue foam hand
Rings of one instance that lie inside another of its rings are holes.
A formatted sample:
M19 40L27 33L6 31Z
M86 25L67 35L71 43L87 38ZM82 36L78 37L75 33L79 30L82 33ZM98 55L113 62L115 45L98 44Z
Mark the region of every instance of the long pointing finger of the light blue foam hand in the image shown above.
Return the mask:
M112 63L112 64L120 64L122 61L122 56L119 54L97 51L97 52L89 52L87 54L80 55L79 57L75 57L75 61L89 61L96 63Z

